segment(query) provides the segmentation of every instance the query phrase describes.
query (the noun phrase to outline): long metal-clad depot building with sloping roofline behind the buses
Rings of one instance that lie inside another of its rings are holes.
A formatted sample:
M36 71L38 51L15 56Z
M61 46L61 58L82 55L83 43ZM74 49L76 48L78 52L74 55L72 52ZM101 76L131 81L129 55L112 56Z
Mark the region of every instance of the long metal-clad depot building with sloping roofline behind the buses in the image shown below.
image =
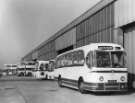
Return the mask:
M21 61L52 60L90 43L117 43L127 53L129 87L135 88L135 0L101 0L25 55Z

